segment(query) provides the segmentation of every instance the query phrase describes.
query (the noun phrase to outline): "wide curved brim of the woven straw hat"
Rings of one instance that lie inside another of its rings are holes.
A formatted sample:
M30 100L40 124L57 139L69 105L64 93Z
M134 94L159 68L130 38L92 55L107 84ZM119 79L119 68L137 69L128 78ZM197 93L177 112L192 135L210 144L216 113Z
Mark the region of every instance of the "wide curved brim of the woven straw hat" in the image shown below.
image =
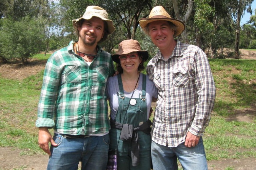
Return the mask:
M169 22L173 23L174 25L176 25L177 31L174 34L174 36L180 35L185 30L185 24L183 22L181 22L177 19L173 19L173 18L141 18L139 20L139 25L142 28L142 30L145 33L147 33L145 31L147 24L154 22L154 21L169 21Z

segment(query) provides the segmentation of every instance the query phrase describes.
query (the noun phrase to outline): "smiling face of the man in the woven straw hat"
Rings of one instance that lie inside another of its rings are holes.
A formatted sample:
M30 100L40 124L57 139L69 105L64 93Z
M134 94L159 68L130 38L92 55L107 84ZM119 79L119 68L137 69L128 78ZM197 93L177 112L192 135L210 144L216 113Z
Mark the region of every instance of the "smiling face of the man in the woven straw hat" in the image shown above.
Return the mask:
M168 21L154 21L149 23L149 35L160 51L169 50L174 41L174 29Z

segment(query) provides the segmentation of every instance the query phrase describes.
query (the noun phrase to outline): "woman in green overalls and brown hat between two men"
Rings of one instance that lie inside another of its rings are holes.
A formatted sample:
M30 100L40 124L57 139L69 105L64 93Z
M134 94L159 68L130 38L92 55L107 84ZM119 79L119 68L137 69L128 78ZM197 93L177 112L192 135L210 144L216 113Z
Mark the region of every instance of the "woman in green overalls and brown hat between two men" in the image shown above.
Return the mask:
M110 149L118 151L119 170L151 169L149 112L158 92L140 73L148 57L133 39L120 42L118 52L112 55L119 74L108 79L106 91L111 109Z

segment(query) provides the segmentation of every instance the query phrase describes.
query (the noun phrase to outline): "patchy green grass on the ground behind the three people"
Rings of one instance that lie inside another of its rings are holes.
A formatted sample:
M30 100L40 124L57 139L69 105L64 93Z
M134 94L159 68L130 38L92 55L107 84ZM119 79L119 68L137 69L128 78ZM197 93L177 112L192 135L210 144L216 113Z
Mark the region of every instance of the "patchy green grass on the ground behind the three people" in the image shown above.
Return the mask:
M36 56L40 60L47 57ZM210 59L209 62L217 93L211 121L204 134L207 159L256 158L255 115L247 115L251 122L229 119L239 111L256 107L256 60ZM43 70L22 81L0 77L1 147L23 149L20 155L45 154L37 144L35 127L42 77Z

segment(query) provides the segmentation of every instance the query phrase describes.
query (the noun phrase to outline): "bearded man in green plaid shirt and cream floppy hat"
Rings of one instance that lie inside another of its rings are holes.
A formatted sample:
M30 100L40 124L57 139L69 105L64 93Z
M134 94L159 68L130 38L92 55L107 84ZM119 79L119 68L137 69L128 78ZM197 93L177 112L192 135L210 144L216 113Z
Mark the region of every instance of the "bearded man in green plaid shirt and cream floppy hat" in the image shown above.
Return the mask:
M78 41L72 40L46 63L38 143L50 156L48 170L77 170L80 161L83 170L105 170L110 143L105 86L115 71L111 55L98 42L115 27L98 6L88 6L72 23ZM53 137L49 128L54 128Z

